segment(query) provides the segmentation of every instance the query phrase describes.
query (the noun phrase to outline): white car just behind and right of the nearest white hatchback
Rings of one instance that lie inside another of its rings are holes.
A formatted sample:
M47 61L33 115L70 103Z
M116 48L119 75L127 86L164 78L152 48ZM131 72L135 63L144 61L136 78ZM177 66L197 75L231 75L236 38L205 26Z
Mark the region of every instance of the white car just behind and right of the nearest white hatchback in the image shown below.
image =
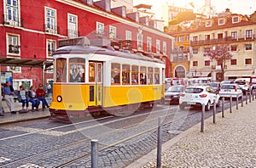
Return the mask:
M220 87L220 91L218 92L219 96L221 98L241 98L242 97L242 91L241 87L239 87L236 83L233 84L223 84Z

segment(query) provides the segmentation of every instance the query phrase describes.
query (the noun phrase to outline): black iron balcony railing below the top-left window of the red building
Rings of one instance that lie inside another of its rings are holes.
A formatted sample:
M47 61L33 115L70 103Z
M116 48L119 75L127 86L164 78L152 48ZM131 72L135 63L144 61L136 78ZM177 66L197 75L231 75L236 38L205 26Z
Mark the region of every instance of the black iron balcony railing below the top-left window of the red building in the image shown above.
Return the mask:
M9 25L14 27L24 27L24 20L19 19L18 17L12 17L8 14L3 14L2 16L3 25Z

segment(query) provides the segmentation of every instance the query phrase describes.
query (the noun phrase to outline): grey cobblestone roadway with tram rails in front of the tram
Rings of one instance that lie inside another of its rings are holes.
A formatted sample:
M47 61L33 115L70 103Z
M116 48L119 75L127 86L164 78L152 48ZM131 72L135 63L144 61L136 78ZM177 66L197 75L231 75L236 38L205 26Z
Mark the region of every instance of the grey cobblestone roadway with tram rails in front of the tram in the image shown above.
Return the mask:
M168 109L169 106L162 106L160 109ZM177 110L177 106L172 107L168 115L165 117L166 121L181 118L171 124L165 125L163 129L164 142L176 137L178 132L171 132L170 130L178 130L183 132L189 127L194 126L201 119L200 109L191 109L189 112ZM206 113L206 117L212 115L211 112ZM187 117L187 118L186 118ZM184 118L186 118L184 120ZM108 119L111 120L111 119ZM135 117L133 120L139 120ZM102 122L103 124L104 122ZM56 125L55 125L56 124ZM108 124L108 128L121 127L127 124L127 120L115 122L115 125ZM146 126L144 123L143 126ZM157 126L157 121L151 121L148 126ZM64 164L69 160L74 160L90 153L90 138L82 143L73 144L66 148L60 148L63 145L73 143L84 139L84 132L73 132L78 127L65 127L47 132L41 132L42 129L50 128L51 126L62 126L59 122L51 122L40 120L38 123L33 120L26 124L20 125L17 123L12 125L11 128L0 130L2 139L10 135L21 135L28 132L26 136L15 137L11 139L0 141L0 166L1 167L56 167ZM92 126L91 123L89 126ZM120 129L118 132L113 132L104 135L105 129L93 129L90 131L91 136L93 133L102 134L99 139L99 148L106 147L108 144L113 144L126 137L131 137L132 133L139 133L143 131L143 126L134 127L132 129ZM83 127L80 126L80 127ZM39 132L38 132L39 131ZM32 132L32 133L31 133ZM35 133L33 133L35 132ZM88 136L89 134L87 134ZM141 158L144 154L148 154L156 147L157 132L138 134L133 138L126 139L124 142L117 143L113 147L101 150L99 153L99 167L125 167L132 162ZM60 149L55 149L60 148ZM3 161L1 161L3 160ZM9 164L9 165L6 165ZM26 165L27 164L27 165ZM90 156L82 160L78 160L71 165L65 167L90 167Z

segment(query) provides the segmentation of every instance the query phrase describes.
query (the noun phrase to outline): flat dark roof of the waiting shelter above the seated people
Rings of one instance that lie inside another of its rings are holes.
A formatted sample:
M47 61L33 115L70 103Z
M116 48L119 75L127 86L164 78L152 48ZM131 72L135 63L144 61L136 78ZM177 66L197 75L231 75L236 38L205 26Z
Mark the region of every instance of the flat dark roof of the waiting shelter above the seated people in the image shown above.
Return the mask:
M45 65L45 69L53 65L53 61L40 60L40 59L14 59L14 58L0 58L1 66L25 66L32 68L42 68Z

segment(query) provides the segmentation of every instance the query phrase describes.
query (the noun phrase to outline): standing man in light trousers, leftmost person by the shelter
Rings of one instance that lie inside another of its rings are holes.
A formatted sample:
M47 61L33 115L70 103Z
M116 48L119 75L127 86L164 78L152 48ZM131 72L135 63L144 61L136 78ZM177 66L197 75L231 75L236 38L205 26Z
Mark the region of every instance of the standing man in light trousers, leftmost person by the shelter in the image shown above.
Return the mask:
M2 94L7 106L9 107L11 114L16 114L14 92L14 87L11 86L10 81L6 81L5 85L3 86Z

